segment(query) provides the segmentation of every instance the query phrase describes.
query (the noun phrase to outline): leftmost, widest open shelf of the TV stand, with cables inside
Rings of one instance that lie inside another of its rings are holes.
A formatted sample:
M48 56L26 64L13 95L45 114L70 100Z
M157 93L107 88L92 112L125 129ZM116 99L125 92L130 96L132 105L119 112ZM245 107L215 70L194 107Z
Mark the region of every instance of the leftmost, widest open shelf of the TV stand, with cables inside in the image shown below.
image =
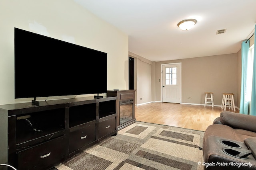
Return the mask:
M16 116L17 150L65 135L65 109L37 111Z

